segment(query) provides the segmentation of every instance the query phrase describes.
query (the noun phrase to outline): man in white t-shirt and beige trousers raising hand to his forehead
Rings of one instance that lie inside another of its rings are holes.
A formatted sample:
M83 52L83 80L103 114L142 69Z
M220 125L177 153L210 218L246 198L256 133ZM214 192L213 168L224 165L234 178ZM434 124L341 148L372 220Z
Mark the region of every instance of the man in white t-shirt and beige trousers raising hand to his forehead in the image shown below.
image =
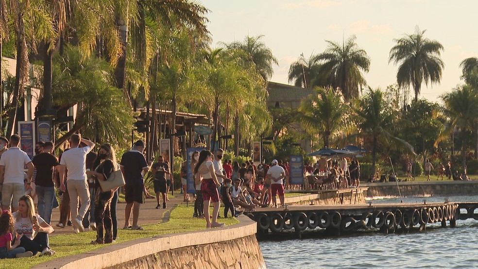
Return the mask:
M60 189L65 191L65 169L68 169L67 186L71 215L74 216L71 222L74 226L73 231L78 233L84 231L82 220L90 204L90 194L86 182L86 154L95 147L95 143L81 138L80 134L71 135L69 143L70 149L63 152L60 160ZM84 143L86 147L78 148L80 143ZM80 210L78 210L78 198L81 202Z

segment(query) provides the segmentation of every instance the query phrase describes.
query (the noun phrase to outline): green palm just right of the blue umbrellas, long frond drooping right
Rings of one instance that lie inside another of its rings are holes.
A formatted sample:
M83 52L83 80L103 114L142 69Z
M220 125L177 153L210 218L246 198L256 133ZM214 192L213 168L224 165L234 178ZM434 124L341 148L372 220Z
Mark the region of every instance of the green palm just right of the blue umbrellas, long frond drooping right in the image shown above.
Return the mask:
M348 139L357 136L372 139L372 175L375 175L379 144L413 153L409 143L392 135L391 131L398 120L398 114L384 100L383 92L379 88L374 90L369 87L367 94L358 101L355 114L359 133L350 135Z

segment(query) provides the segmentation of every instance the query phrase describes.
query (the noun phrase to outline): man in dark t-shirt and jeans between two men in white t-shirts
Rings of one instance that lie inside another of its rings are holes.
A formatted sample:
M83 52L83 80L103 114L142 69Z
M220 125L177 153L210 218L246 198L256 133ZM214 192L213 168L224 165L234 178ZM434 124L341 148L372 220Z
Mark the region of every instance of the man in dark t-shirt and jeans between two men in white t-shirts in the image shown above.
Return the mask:
M58 159L51 154L53 148L53 143L45 142L43 151L33 158L33 164L36 168L35 192L38 196L38 214L48 224L51 221L53 199L56 199L53 182L54 170L60 166Z

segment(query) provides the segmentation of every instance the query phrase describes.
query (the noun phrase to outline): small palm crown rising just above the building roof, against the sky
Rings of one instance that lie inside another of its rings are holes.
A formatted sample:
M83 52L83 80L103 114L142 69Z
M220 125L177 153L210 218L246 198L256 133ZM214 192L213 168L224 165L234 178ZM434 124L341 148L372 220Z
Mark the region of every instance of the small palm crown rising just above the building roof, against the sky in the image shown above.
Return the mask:
M314 85L320 86L319 80L319 56L317 54L310 54L306 60L304 54L300 55L297 61L290 64L289 67L289 82L294 82L297 87L313 88Z

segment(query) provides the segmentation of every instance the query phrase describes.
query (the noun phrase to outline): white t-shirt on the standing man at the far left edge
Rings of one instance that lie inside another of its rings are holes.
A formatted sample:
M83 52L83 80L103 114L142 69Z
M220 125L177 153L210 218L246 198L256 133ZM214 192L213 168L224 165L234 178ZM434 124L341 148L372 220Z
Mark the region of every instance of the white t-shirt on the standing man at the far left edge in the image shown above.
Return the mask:
M11 147L3 152L0 158L0 166L5 167L3 183L23 184L25 165L32 162L27 152L18 147Z

